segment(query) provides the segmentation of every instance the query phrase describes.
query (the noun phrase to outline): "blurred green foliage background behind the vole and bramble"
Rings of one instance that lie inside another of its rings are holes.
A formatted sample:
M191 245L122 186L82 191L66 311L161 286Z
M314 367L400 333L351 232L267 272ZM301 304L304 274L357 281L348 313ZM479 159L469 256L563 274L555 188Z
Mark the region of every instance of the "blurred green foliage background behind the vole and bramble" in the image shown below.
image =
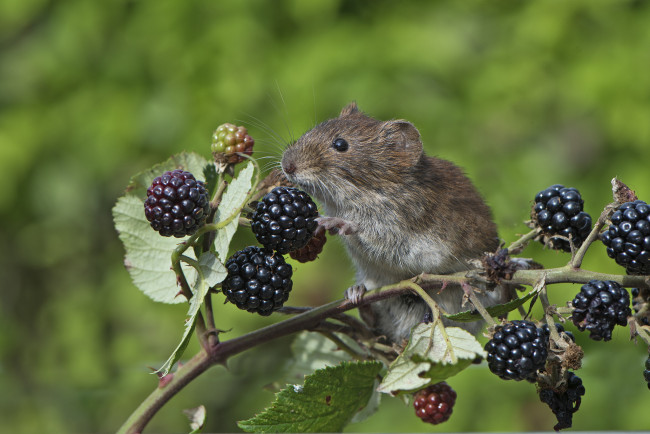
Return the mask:
M596 217L619 176L650 199L650 5L644 1L0 2L0 431L111 432L156 386L185 305L151 302L131 283L111 207L129 177L171 154L209 155L223 122L249 127L256 155L356 100L405 118L430 154L463 166L508 241L526 231L535 193L580 189ZM271 162L271 159L262 160ZM277 161L277 160L276 160ZM238 235L234 247L252 243ZM531 246L547 267L566 254ZM621 273L602 245L584 266ZM335 240L296 266L292 304L340 298L352 268ZM560 305L578 287L551 289ZM277 318L222 306L237 336ZM575 332L575 328L568 326ZM643 345L584 334L579 430L648 429ZM290 339L213 368L153 419L206 432L264 408ZM196 352L193 342L188 356ZM397 399L351 431L548 430L534 386L485 365L450 381L451 420L423 424Z

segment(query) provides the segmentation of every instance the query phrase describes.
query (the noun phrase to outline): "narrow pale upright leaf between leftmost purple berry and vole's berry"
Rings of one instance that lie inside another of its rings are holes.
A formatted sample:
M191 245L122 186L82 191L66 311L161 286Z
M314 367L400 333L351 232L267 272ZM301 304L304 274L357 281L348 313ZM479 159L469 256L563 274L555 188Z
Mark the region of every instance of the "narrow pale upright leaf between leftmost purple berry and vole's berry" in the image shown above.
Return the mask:
M245 205L244 201L251 189L251 180L253 179L254 166L252 163L247 163L243 169L239 171L237 178L233 179L226 192L221 198L219 208L215 215L215 223L221 223L230 218L234 213L237 215L225 227L217 231L214 240L214 249L221 262L226 262L228 259L228 250L230 241L232 240L237 226L239 225L239 210Z

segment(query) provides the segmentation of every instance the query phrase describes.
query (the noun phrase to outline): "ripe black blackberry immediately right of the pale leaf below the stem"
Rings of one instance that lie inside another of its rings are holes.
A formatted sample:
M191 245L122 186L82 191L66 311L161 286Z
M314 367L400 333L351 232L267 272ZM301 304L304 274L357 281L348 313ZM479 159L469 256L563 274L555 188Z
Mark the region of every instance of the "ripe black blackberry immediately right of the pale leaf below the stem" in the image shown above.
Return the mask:
M544 368L548 335L530 321L514 320L498 326L485 344L490 371L504 380L524 380Z

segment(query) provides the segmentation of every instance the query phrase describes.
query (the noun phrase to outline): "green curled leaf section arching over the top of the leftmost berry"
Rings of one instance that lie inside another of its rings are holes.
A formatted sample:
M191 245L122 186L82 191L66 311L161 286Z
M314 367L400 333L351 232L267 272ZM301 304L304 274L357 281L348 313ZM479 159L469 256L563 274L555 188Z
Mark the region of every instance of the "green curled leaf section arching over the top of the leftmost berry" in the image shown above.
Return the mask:
M183 169L191 172L197 180L205 181L205 173L206 171L209 173L209 165L208 160L194 152L182 152L172 155L166 161L133 175L128 187L126 187L126 191L145 200L147 197L147 188L149 188L156 176L160 176L168 170Z

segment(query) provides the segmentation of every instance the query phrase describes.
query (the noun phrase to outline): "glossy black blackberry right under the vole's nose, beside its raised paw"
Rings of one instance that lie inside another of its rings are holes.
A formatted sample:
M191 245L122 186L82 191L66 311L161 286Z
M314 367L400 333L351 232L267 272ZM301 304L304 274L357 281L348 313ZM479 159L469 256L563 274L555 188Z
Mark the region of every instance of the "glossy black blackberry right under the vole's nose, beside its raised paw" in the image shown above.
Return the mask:
M285 254L307 245L318 226L316 217L318 208L307 193L276 187L258 202L251 228L264 247Z

